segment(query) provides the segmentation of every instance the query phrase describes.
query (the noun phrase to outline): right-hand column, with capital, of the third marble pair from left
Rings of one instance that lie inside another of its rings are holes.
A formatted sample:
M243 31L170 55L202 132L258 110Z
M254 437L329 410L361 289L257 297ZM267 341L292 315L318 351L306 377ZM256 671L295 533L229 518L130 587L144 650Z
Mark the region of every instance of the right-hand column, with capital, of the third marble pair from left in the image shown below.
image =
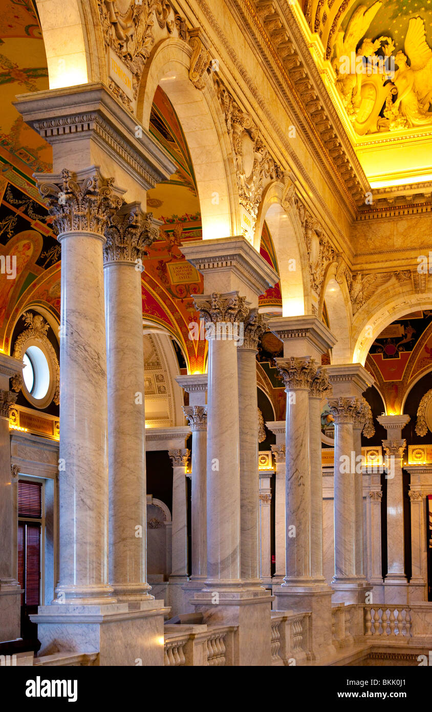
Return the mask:
M321 459L321 413L322 399L332 392L327 371L318 367L309 397L310 427L310 513L311 551L310 574L312 579L324 585L323 540L322 540L322 459Z

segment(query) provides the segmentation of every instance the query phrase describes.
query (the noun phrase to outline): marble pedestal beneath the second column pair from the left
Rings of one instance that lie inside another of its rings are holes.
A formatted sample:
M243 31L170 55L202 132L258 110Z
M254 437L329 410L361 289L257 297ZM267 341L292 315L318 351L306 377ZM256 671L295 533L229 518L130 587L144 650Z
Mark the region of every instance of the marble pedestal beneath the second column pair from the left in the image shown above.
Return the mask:
M196 612L208 625L235 625L234 660L239 666L271 665L271 604L263 588L206 588L191 597Z

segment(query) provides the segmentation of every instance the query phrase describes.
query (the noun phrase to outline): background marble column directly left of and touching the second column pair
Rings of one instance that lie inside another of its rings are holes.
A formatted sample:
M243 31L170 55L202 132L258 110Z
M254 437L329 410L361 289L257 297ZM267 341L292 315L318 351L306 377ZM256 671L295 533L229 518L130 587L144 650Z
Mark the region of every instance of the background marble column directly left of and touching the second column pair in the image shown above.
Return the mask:
M205 581L207 572L207 406L189 405L183 412L192 431L192 566L191 580Z

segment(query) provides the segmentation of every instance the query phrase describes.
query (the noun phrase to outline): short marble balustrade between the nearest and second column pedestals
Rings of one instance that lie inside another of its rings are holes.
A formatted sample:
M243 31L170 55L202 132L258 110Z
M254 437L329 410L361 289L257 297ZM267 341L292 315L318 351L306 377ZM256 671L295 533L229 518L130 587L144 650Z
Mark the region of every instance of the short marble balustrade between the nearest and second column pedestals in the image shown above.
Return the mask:
M172 625L164 632L166 666L232 666L236 626Z

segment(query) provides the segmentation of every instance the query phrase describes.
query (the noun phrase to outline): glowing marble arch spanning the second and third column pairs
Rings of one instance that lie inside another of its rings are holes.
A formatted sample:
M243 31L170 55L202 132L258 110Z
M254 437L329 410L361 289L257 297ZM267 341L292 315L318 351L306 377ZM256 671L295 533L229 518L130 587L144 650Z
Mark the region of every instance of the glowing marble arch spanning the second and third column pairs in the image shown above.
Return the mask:
M309 271L305 239L293 202L283 206L284 193L281 182L266 187L258 209L253 246L259 252L265 221L278 259L283 316L309 314L310 285L303 280Z

